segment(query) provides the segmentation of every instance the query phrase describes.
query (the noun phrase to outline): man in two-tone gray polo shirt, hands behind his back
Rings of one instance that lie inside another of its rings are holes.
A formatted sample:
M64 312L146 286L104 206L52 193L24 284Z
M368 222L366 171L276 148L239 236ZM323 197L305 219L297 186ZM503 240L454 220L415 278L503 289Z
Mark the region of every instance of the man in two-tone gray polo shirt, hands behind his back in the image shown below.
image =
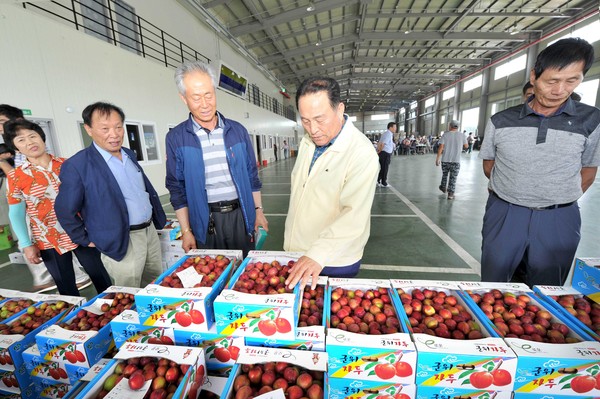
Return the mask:
M548 46L530 72L533 96L488 122L482 281L508 282L523 261L528 285L564 284L580 239L577 199L600 164L600 110L570 98L593 60L582 39Z

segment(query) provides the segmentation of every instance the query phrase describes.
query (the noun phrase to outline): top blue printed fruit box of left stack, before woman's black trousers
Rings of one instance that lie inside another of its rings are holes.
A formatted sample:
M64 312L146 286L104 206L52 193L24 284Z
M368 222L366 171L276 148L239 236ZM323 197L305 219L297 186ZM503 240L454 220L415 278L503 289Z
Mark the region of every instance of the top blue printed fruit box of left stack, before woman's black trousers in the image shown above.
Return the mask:
M80 318L80 312L102 315L102 306L112 304L119 294L135 294L139 288L111 286L106 291L73 311L64 323L71 324L75 318ZM108 297L108 298L106 298ZM125 300L123 298L122 300ZM131 303L130 303L131 305ZM121 305L119 305L121 306ZM117 310L117 308L114 308ZM36 335L36 342L44 359L61 361L68 366L89 368L100 360L110 349L113 341L108 319L98 331L68 330L59 325L53 325ZM104 320L102 320L104 322Z

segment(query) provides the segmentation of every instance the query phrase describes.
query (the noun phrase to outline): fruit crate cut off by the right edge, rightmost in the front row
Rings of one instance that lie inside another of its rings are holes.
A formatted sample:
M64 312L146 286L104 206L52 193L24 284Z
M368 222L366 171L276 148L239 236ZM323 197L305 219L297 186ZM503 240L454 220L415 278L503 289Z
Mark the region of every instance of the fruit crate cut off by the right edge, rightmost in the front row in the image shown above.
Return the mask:
M561 312L570 324L600 341L600 304L588 299L573 287L536 285L533 291Z

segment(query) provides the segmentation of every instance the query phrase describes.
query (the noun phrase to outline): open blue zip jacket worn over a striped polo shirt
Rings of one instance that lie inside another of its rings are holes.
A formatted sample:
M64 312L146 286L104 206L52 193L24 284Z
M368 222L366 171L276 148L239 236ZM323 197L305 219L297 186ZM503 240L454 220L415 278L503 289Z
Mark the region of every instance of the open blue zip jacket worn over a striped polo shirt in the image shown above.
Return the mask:
M246 234L254 231L256 210L253 191L260 191L258 168L250 135L240 123L223 115L223 141L229 172L238 193ZM166 186L171 194L175 210L188 207L190 227L196 240L205 243L208 229L208 197L206 176L200 139L194 133L191 118L171 129L166 138L167 178Z

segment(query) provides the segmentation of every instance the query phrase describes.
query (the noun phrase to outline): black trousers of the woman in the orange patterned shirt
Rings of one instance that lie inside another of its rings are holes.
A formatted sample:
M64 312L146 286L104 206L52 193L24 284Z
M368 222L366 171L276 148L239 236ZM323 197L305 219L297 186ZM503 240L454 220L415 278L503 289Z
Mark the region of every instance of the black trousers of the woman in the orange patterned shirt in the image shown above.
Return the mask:
M102 263L100 252L93 247L79 246L73 251L60 255L55 249L40 251L48 272L54 279L58 292L61 295L79 296L73 271L73 252L79 259L85 272L90 276L98 293L112 285L110 276Z

